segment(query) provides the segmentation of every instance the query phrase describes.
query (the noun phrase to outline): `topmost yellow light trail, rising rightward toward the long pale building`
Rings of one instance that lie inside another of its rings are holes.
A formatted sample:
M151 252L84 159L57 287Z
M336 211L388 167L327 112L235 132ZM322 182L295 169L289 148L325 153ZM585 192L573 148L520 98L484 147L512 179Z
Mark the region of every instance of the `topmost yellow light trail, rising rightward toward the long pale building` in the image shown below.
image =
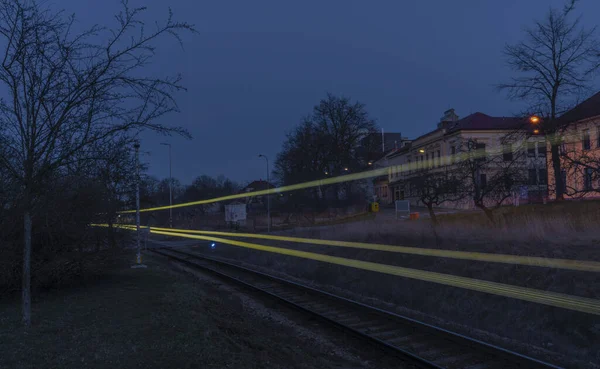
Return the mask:
M577 140L580 139L579 135L577 135L577 134L573 134L573 135L569 135L569 136L575 137L575 138L577 138ZM564 137L568 137L568 136L567 135L540 136L540 138L542 138L542 137L544 137L546 139L546 141L554 142L556 140L555 137L559 137L559 139L562 140ZM569 141L567 143L572 143L572 142L578 142L578 141ZM317 186L325 186L325 185L330 185L330 184L335 184L335 183L358 181L358 180L362 180L362 179L388 175L389 170L392 167L398 168L398 173L410 172L410 171L417 170L419 168L433 169L434 164L438 160L440 163L445 163L443 165L453 165L453 164L457 164L461 161L465 161L467 159L472 160L472 159L477 159L477 158L481 158L484 156L499 155L499 154L502 154L502 152L503 152L502 148L499 148L497 150L487 150L487 151L485 149L473 150L470 152L461 152L461 153L457 153L454 155L446 155L446 156L443 156L440 158L432 158L432 159L428 159L428 160L423 160L421 162L413 161L411 163L405 163L405 164L401 164L401 165L387 166L387 167L368 170L368 171L364 171L364 172L360 172L360 173L352 173L352 174L346 174L346 175L337 176L337 177L318 179L318 180L314 180L314 181L297 183L294 185L282 186L282 187L277 187L277 188L272 188L272 189L267 189L267 190L239 193L239 194L234 194L234 195L215 197L215 198L206 199L206 200L191 201L191 202L175 204L175 205L165 205L165 206L157 206L157 207L153 207L153 208L145 208L145 209L140 209L140 212L177 209L177 208L184 208L184 207L188 207L188 206L204 205L204 204L211 204L211 203L220 202L220 201L241 199L241 198L246 198L246 197L251 197L251 196L264 196L264 195L270 195L270 194L290 192L290 191L296 191L296 190L317 187ZM118 213L119 214L132 214L135 212L136 212L135 209L131 209L131 210L120 211Z

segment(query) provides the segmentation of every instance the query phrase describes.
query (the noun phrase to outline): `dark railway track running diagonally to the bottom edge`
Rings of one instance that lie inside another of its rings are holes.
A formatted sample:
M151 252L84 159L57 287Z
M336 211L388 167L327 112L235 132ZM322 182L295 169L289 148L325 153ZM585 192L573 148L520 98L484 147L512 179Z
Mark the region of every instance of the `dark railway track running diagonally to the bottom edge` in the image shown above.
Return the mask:
M325 291L175 249L149 250L282 300L423 368L560 368Z

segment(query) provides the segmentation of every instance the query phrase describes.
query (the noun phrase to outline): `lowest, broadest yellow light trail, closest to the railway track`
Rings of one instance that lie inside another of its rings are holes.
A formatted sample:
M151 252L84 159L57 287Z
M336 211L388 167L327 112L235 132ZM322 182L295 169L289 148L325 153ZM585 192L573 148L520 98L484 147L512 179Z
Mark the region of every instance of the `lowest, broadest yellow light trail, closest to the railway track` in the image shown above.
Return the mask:
M129 228L131 229L131 228ZM253 250L265 251L275 254L294 256L302 259L316 260L324 263L342 265L350 268L368 270L398 277L417 279L446 286L463 288L471 291L484 292L492 295L504 296L538 304L560 307L564 309L600 315L600 300L567 295L556 292L541 291L526 287L517 287L502 283L489 282L480 279L457 277L449 274L428 272L418 269L403 268L394 265L379 264L368 261L347 259L337 256L317 254L313 252L290 250L285 248L259 245L249 242L230 240L218 237L191 235L177 232L164 232L150 230L151 233L165 236L190 238L205 241L214 241Z

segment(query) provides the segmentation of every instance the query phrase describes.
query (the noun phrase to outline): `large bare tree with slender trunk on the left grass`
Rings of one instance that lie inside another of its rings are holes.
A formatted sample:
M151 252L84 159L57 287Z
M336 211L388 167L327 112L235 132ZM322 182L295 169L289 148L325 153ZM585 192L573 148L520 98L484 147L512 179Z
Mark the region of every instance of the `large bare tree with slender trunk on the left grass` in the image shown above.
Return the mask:
M93 159L87 149L113 136L141 129L181 133L156 124L176 111L173 93L183 90L179 77L144 76L154 42L192 25L169 12L162 24L145 27L145 8L126 1L116 26L73 31L65 16L36 1L0 0L2 52L0 82L8 98L0 102L0 140L6 156L0 165L22 188L24 226L23 322L31 324L30 265L32 213L44 179L73 160ZM104 41L101 41L104 40Z

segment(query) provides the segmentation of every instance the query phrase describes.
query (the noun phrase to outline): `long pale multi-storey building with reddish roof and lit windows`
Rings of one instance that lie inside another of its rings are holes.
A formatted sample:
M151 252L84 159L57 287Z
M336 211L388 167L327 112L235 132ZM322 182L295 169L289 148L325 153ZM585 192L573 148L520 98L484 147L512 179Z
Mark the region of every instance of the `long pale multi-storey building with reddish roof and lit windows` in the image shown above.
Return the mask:
M532 128L526 119L492 117L480 112L459 119L454 109L449 109L444 112L434 130L387 156L387 186L392 201L408 199L413 206L421 205L415 191L411 191L411 180L422 176L424 172L435 173L455 167L457 156L465 142L475 142L478 151L486 155L495 153L506 162L516 161L516 154L519 154L519 162L515 165L519 166L523 176L528 176L529 182L526 186L515 188L515 194L520 196L521 203L542 201L545 198L548 178L546 143L543 136L532 134ZM487 176L491 174L493 173L480 173L480 183L485 185ZM514 199L511 198L510 201ZM443 206L472 208L474 204L472 200L465 200L460 203L444 203Z

